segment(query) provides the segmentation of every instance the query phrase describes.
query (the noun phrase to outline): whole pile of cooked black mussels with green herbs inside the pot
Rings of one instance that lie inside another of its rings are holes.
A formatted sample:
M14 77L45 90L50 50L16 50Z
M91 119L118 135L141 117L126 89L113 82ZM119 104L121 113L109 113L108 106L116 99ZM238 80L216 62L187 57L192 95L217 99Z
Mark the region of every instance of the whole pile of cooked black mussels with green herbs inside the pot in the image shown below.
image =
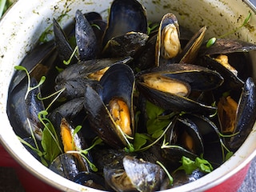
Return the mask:
M26 148L63 177L100 190L165 190L207 174L187 173L182 158L216 168L250 133L254 44L206 46L206 26L192 34L171 13L149 25L136 0L114 0L107 22L77 10L69 27L54 19L53 28L54 40L23 59L28 73L15 71L7 113Z

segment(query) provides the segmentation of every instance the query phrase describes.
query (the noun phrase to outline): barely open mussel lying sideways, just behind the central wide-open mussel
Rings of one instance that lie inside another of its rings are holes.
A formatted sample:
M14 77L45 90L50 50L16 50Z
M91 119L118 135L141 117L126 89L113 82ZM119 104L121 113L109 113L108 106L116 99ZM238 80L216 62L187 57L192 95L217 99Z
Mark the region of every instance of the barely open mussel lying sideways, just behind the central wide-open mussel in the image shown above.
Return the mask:
M63 70L55 78L55 90L61 90L62 97L66 99L79 98L84 96L85 87L91 86L95 90L98 89L98 80L102 78L105 71L117 63L129 63L132 58L102 58L93 59L71 65Z

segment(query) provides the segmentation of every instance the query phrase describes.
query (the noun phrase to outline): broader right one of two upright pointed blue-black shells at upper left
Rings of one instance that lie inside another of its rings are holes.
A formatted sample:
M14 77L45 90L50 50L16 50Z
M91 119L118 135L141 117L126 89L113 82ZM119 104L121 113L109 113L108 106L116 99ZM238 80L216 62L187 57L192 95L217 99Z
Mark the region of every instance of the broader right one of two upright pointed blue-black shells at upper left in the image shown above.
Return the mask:
M80 10L75 14L75 38L78 46L79 59L81 61L96 58L99 53L98 40L94 34L90 22Z

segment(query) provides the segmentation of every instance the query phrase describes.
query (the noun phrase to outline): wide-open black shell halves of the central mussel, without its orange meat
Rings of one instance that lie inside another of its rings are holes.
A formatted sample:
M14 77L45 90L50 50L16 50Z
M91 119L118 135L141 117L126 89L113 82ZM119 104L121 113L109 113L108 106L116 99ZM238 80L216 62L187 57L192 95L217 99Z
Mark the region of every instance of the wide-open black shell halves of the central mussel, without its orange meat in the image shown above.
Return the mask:
M127 146L126 136L114 121L108 109L112 98L120 98L128 106L130 113L130 130L134 134L134 73L129 66L116 64L102 76L102 89L93 90L86 86L84 107L92 128L104 142L114 148Z

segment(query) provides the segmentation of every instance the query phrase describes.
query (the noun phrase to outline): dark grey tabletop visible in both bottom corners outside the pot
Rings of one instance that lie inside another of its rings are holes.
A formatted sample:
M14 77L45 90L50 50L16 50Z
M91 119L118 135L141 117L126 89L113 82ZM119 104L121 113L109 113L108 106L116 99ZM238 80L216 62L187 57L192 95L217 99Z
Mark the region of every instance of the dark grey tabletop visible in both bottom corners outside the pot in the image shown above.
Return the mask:
M251 162L250 170L246 175L245 181L238 192L256 191L256 158ZM25 192L15 174L15 170L10 167L0 167L0 191L1 192ZM39 190L38 190L39 191Z

